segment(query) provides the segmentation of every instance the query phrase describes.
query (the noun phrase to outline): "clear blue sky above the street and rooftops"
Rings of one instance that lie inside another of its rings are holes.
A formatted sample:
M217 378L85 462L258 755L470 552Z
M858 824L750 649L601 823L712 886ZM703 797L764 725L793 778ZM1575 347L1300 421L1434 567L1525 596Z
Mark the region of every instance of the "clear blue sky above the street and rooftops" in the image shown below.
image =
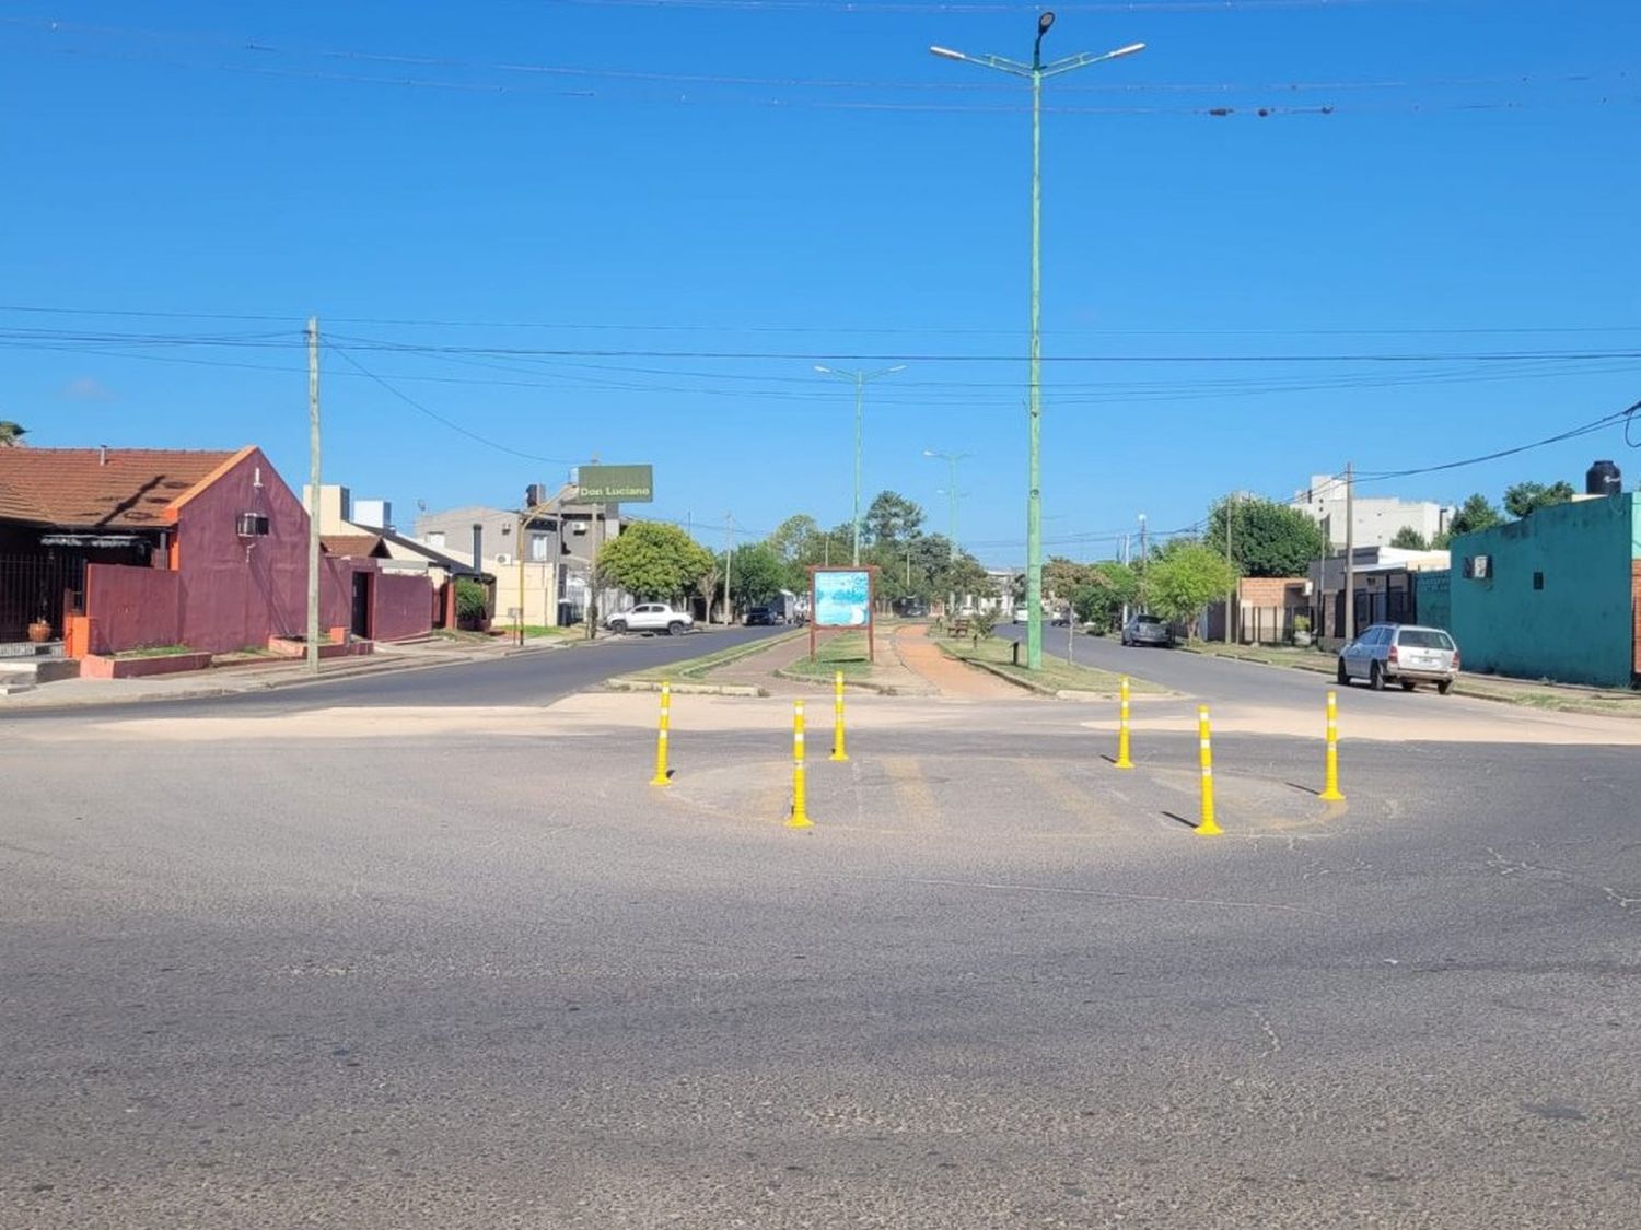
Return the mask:
M922 449L970 453L960 538L1021 563L1029 98L927 46L1029 57L1035 11L13 3L0 417L259 443L300 485L317 313L327 479L405 526L596 454L653 462L656 515L765 531L850 515L852 392L814 362L904 362L868 392L868 499L944 528ZM1057 11L1054 56L1149 49L1047 92L1050 549L1641 399L1633 3ZM1598 456L1641 477L1613 426L1374 490Z

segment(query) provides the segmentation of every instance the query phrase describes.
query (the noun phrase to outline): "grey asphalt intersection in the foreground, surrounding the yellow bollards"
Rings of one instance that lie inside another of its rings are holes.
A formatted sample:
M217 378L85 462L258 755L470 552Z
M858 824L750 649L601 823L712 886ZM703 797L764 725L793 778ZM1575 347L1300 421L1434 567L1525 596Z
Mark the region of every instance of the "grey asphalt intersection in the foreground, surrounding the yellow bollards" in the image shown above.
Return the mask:
M1634 1223L1633 749L1014 708L16 728L0 1225Z

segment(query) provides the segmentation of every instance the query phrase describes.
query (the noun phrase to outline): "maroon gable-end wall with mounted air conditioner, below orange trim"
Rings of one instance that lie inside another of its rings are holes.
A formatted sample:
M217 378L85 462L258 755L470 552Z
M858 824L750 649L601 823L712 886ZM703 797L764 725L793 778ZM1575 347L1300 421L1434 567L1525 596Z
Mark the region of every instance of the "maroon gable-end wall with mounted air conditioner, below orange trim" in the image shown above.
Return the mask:
M267 517L267 535L240 538L245 512ZM184 645L226 653L307 630L307 510L261 449L248 449L174 513ZM348 625L351 574L340 559L322 561L322 628Z

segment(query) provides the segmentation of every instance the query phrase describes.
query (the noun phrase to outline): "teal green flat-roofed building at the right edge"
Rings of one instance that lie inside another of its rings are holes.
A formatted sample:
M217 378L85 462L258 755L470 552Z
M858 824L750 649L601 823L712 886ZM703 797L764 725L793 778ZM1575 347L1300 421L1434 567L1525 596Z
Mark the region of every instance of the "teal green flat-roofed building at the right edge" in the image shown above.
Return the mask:
M1634 495L1539 508L1452 541L1451 622L1465 671L1630 687Z

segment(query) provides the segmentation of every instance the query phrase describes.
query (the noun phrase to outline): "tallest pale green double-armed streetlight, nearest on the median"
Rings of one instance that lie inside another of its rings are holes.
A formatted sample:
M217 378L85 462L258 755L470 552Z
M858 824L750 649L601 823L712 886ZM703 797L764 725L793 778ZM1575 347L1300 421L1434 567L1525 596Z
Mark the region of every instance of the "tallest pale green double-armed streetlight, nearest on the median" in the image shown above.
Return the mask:
M929 48L942 59L957 59L996 69L1011 77L1031 80L1031 469L1026 492L1026 666L1042 669L1042 82L1063 72L1108 59L1132 56L1144 51L1144 43L1131 43L1101 54L1081 52L1065 59L1042 62L1042 36L1054 25L1054 13L1037 18L1037 41L1032 44L1031 64L1003 56L967 56L950 48Z

